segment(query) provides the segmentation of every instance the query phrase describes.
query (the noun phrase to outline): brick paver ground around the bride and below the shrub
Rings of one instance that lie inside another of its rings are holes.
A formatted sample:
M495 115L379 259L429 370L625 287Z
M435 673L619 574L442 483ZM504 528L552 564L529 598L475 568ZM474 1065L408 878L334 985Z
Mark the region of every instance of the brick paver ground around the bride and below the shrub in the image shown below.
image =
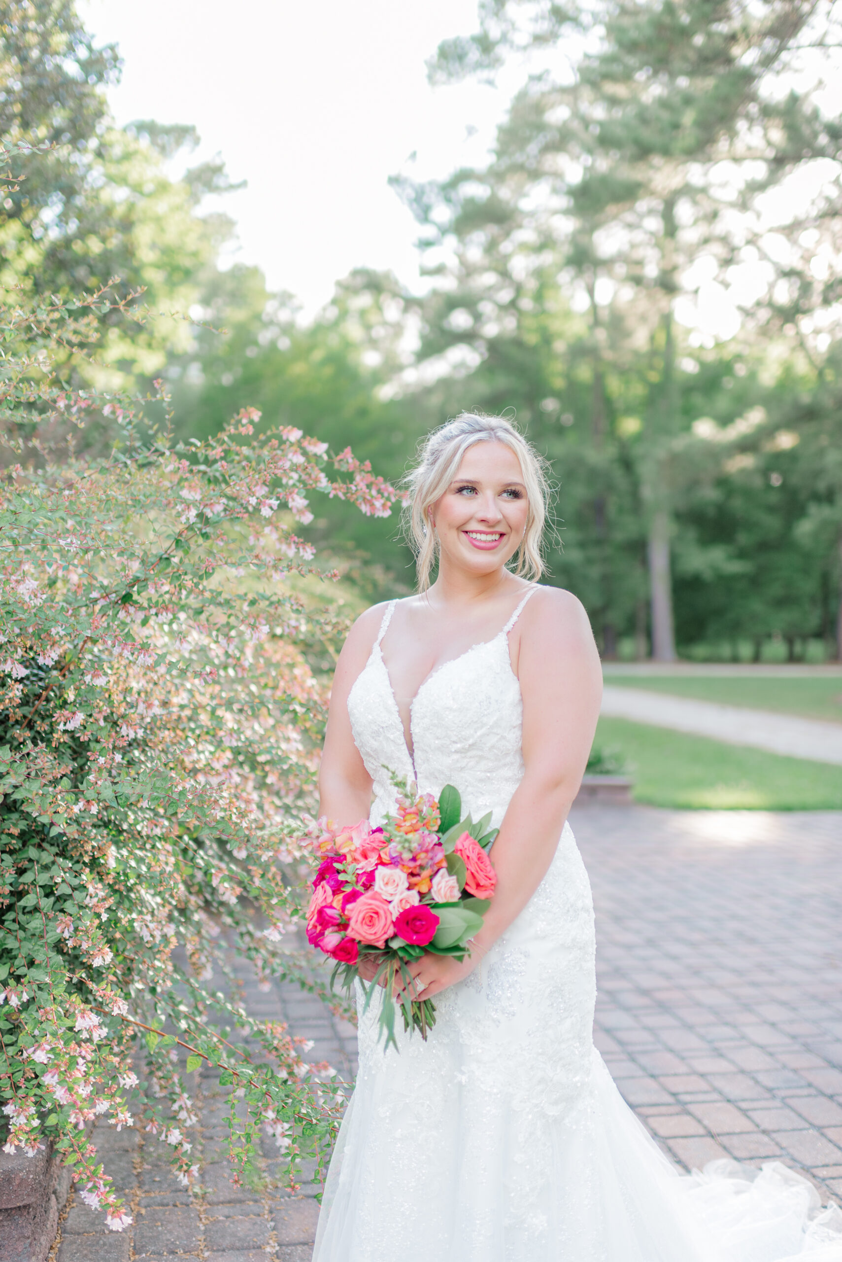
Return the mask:
M842 1196L842 813L586 806L571 822L596 904L596 1041L628 1102L686 1166L775 1157ZM243 987L353 1073L353 1030L318 1001ZM198 1103L204 1193L179 1188L156 1140L100 1128L136 1225L106 1233L72 1200L58 1262L309 1262L318 1189L236 1189L211 1079Z

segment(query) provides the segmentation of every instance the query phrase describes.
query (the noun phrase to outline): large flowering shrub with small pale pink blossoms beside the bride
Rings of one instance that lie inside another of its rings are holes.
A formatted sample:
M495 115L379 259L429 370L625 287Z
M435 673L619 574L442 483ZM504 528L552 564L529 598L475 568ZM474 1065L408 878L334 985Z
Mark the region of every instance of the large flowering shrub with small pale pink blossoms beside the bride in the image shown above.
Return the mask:
M187 449L154 428L149 438L131 403L68 384L95 313L121 305L110 290L11 298L0 305L5 1150L52 1140L84 1200L121 1229L131 1219L87 1123L156 1133L189 1182L183 1131L202 1064L236 1088L234 1177L253 1171L261 1126L291 1181L303 1152L333 1138L329 1066L205 983L233 946L258 977L309 984L282 935L300 915L290 873L314 814L324 709L305 650L337 627L296 579L314 570L295 525L314 491L374 515L395 492L349 451L329 461L296 429L261 434L253 410ZM92 420L111 442L82 458ZM233 1026L262 1063L226 1037Z

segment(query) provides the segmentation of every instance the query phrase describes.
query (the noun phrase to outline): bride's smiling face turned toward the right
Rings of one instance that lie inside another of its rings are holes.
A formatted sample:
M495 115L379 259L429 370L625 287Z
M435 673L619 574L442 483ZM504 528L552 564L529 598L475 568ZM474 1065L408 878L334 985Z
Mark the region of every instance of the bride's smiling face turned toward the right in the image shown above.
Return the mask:
M505 443L474 443L465 452L430 517L439 535L441 564L474 574L503 567L518 549L529 501L521 462Z

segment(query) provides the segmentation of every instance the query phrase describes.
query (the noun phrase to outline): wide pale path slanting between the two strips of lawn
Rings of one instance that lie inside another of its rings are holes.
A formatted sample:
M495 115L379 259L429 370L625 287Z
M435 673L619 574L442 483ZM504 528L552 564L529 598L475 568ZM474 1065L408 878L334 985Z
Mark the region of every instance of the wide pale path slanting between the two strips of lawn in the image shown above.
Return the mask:
M606 684L603 692L601 713L606 718L625 718L634 723L668 727L674 732L707 736L726 745L749 745L790 758L842 766L842 723L611 684Z

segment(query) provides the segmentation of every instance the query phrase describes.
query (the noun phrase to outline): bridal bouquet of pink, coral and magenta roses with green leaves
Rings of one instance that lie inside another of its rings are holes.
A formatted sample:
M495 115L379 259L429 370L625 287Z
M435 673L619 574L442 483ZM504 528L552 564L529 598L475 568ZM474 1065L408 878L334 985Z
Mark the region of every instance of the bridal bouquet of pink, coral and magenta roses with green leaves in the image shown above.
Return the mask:
M420 1030L426 1039L435 1025L432 1001L412 998L407 964L425 952L464 959L494 893L497 875L488 851L498 830L489 829L490 811L476 824L470 815L460 817L461 799L453 785L445 785L437 800L408 785L396 813L377 828L364 819L339 830L319 822L308 940L337 962L332 986L339 979L347 991L359 977L360 962L374 958L377 972L363 1011L382 982L379 1030L386 1047L397 1047L398 1006L405 1030ZM403 986L397 1001L396 983Z

